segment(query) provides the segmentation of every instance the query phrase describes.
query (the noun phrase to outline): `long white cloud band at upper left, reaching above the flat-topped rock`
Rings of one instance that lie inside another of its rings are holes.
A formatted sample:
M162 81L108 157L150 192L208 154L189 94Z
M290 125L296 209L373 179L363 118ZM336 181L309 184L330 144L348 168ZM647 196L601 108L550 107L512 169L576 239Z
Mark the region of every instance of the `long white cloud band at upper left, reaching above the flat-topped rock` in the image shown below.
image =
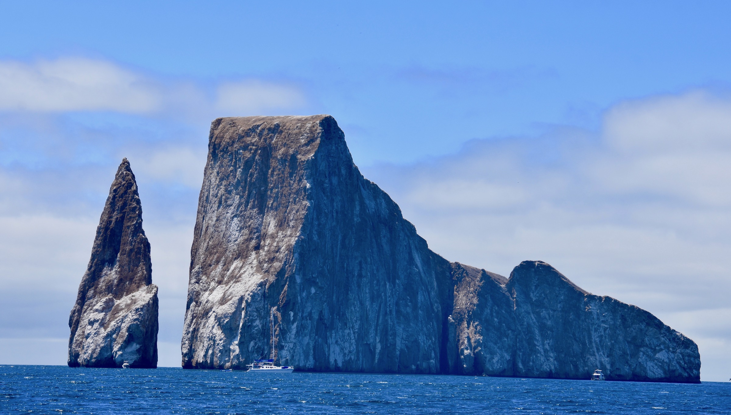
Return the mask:
M209 90L189 79L161 79L98 59L0 61L0 111L140 115L179 111L216 117L221 111L257 115L307 103L303 92L286 82L234 79Z

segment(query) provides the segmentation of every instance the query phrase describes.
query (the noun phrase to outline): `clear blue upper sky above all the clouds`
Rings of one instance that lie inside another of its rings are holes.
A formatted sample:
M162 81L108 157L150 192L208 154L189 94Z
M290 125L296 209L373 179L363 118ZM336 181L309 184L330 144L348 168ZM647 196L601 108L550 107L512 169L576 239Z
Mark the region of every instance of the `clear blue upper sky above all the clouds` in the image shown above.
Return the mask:
M729 79L722 2L32 4L4 6L7 59L100 58L208 86L287 82L308 98L300 111L352 127L366 163L556 123L596 127L618 101ZM444 131L454 121L460 131Z

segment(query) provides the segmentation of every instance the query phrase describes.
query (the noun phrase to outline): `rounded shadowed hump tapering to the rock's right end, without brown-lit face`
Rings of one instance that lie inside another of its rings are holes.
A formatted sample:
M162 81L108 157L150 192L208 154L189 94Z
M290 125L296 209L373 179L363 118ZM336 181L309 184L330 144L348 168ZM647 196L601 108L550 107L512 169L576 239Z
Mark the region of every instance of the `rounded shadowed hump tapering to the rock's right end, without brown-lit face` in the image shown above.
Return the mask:
M657 317L576 287L541 261L523 261L506 289L518 328L515 376L700 381L696 344Z

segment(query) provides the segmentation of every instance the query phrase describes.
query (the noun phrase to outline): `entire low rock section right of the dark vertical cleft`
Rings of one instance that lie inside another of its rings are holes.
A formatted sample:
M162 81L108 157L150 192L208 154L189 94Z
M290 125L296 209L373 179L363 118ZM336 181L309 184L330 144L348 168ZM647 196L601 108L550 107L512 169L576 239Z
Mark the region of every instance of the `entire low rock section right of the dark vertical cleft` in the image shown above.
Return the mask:
M607 380L700 381L696 344L652 314L590 294L542 261L509 280L452 264L458 361L463 374Z

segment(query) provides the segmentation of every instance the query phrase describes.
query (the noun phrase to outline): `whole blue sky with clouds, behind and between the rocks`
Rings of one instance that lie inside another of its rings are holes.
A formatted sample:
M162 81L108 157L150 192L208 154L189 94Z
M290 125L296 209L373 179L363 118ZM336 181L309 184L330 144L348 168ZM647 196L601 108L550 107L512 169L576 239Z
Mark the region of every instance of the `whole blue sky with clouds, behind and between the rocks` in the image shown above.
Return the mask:
M728 379L727 2L149 3L0 2L4 363L64 364L127 157L176 365L211 120L327 113L436 252L546 260Z

